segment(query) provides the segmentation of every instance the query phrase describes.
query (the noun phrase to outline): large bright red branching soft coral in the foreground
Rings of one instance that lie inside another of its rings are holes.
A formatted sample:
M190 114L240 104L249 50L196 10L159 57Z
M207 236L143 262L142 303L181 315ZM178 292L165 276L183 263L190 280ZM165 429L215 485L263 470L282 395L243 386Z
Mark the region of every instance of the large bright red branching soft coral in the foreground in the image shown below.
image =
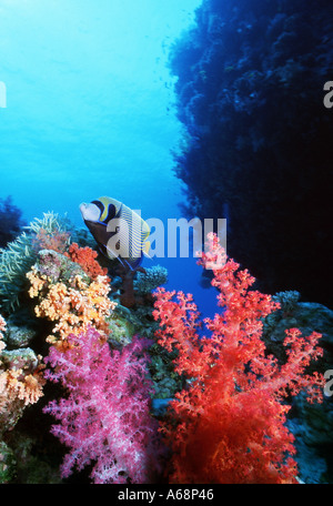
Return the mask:
M286 395L306 389L321 399L323 378L304 374L320 334L285 340L287 362L265 354L262 318L279 307L270 295L250 291L254 279L229 260L214 234L199 263L213 269L223 312L199 336L199 314L191 295L157 294L157 335L167 350L178 350L175 370L188 386L170 403L162 426L172 451L170 479L175 483L295 483L293 435L285 427Z

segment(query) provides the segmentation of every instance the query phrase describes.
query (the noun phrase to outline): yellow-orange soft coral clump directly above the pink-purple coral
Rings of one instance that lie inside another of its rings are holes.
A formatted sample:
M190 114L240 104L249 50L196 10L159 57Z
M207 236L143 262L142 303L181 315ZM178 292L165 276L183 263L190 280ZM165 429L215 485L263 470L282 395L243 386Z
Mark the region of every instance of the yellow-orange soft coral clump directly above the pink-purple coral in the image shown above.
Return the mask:
M60 347L67 347L67 336L79 334L94 326L105 338L109 325L105 318L110 316L115 303L108 298L110 285L108 277L98 275L90 284L80 275L71 281L71 286L62 282L52 283L34 267L27 274L31 283L29 294L39 296L34 311L37 316L57 322L53 334L48 342Z

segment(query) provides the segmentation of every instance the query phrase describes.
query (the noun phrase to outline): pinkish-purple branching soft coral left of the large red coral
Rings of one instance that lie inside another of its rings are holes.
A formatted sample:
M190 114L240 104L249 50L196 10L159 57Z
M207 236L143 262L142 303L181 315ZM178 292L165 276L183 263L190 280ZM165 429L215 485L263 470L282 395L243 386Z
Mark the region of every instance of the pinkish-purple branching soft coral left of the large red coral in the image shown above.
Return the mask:
M121 352L90 327L69 335L67 351L50 348L47 377L61 382L69 397L44 411L61 423L52 433L70 447L62 476L94 463L94 483L149 483L159 472L158 426L150 416L145 341L133 338Z

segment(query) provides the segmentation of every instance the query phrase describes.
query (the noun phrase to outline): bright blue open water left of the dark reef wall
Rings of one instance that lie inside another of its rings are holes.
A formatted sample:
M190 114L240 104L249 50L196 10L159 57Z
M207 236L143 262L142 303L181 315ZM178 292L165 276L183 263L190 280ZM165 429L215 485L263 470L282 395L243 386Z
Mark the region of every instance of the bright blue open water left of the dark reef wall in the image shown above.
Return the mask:
M143 217L180 217L167 62L200 3L0 0L0 198L12 195L28 222L54 211L81 225L79 204L101 195ZM154 262L168 266L168 287L211 312L215 294L200 287L193 259Z

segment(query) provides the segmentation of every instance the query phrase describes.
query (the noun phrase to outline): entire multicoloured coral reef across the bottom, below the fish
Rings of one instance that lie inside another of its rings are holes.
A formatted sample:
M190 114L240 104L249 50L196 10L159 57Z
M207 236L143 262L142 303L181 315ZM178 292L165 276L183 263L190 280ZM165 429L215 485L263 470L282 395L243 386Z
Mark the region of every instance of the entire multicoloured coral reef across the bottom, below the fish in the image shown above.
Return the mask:
M88 474L94 483L295 482L295 447L302 479L330 478L315 434L329 444L321 424L331 409L309 407L300 394L285 398L304 388L321 396L309 362L332 361L330 310L301 303L296 292L250 291L253 279L214 236L210 247L201 263L222 262L212 284L223 306L205 321L211 337L199 334L190 295L174 301L159 287L154 307L163 267L132 273L127 292L114 265L53 213L1 251L2 483L88 482ZM121 304L128 295L130 307Z

